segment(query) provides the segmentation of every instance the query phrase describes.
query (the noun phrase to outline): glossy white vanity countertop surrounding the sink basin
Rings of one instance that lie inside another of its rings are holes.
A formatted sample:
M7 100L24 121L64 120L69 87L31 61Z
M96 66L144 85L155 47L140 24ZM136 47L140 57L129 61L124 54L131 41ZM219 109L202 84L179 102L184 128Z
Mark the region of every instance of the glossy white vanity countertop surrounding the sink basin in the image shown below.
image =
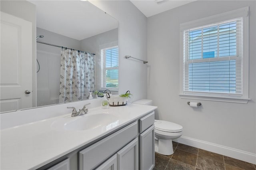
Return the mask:
M27 170L44 166L104 136L136 119L154 111L157 107L128 104L109 109L89 109L79 119L102 111L117 117L112 126L98 126L89 130L60 130L52 125L61 118L77 119L71 113L1 130L1 170ZM96 124L97 122L95 122Z

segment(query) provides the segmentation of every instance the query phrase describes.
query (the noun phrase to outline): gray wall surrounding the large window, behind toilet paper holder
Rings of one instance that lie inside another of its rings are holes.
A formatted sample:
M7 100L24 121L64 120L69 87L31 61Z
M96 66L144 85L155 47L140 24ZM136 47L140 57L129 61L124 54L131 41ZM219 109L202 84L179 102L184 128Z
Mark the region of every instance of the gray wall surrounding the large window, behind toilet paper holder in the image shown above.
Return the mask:
M248 104L180 99L180 24L249 6ZM183 136L256 153L256 1L195 1L148 18L148 99L157 117L183 126ZM187 101L201 102L199 109Z

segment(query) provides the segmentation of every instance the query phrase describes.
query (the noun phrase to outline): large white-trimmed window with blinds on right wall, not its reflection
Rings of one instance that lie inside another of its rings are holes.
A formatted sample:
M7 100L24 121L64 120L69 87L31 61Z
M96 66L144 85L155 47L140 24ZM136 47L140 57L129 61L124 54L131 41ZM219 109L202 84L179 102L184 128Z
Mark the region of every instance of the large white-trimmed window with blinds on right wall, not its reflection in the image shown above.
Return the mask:
M244 52L248 50L247 47L244 49L248 13L244 14L245 10L240 9L240 17L234 11L220 14L230 16L229 20L223 20L218 15L208 20L197 20L196 27L190 27L189 24L181 26L183 79L180 96L188 95L190 99L191 96L198 96L207 100L213 97L248 99L248 75L245 74L248 55ZM211 20L218 22L209 23Z

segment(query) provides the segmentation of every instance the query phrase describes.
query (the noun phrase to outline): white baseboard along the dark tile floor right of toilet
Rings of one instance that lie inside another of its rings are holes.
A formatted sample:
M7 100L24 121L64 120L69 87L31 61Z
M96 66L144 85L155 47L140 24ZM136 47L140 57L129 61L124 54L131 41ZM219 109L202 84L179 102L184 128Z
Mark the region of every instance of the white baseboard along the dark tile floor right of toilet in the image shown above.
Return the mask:
M230 148L227 146L222 146L219 144L214 144L214 143L206 142L203 140L189 138L186 136L181 136L180 138L174 139L173 141L186 144L189 146L193 146L196 148L208 150L210 152L214 152L217 154L222 154L224 156L228 156L228 157L249 162L252 164L256 164L256 154L251 152L246 152L243 150L238 150L238 149Z

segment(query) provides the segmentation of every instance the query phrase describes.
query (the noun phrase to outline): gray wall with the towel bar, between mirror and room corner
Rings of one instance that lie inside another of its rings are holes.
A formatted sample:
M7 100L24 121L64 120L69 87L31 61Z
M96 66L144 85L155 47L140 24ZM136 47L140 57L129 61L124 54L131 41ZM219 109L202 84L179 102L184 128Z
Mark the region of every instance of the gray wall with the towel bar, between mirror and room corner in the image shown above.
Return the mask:
M147 65L141 61L125 59L131 55L147 59L147 19L128 0L89 1L118 20L119 93L133 94L130 101L147 97Z

